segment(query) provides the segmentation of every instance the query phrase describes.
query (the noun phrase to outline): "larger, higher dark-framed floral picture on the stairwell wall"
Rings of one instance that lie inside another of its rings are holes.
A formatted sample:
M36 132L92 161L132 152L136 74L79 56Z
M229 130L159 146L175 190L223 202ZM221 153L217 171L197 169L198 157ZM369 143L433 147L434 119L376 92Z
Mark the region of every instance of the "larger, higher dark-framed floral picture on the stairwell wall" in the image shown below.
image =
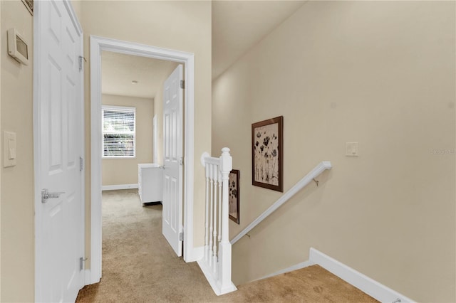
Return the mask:
M283 192L284 117L252 124L252 185Z

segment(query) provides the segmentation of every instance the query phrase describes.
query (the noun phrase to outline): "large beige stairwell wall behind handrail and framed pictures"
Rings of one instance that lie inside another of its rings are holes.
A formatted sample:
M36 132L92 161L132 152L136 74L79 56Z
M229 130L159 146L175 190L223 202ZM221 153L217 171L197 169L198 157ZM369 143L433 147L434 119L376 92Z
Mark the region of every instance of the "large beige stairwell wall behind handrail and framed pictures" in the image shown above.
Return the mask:
M233 246L234 282L314 247L418 302L455 302L455 2L309 1L214 80L212 150L241 171L231 238L281 196L251 185L250 160L252 122L279 115L285 191L333 169Z

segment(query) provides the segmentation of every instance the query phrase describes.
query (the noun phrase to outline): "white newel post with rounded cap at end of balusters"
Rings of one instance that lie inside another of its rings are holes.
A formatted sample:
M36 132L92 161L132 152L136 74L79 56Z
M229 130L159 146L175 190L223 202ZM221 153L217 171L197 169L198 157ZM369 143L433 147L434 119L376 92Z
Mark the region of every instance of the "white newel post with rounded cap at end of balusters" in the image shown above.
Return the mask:
M231 243L229 243L229 226L228 226L228 188L229 172L233 167L233 159L229 154L229 148L222 149L222 156L219 158L220 172L222 173L222 240L219 248L219 270L220 288L227 289L232 286L231 282Z

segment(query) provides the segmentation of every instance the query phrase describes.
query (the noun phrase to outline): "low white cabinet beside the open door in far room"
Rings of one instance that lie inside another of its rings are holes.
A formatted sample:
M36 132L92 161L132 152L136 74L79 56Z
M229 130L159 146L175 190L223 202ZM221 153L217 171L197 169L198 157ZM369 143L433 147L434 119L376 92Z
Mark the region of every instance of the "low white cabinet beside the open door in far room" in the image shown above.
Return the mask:
M158 164L138 164L138 193L142 203L162 201L163 169Z

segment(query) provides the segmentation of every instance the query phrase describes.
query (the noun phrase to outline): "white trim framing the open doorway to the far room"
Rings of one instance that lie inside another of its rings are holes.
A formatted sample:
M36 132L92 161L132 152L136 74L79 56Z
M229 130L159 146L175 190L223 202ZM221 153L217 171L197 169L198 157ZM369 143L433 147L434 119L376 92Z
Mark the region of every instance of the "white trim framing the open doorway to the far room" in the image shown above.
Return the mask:
M171 60L185 64L184 111L184 260L195 261L193 252L193 173L195 135L195 55L178 50L90 36L90 122L91 122L91 219L90 281L101 278L101 50Z

